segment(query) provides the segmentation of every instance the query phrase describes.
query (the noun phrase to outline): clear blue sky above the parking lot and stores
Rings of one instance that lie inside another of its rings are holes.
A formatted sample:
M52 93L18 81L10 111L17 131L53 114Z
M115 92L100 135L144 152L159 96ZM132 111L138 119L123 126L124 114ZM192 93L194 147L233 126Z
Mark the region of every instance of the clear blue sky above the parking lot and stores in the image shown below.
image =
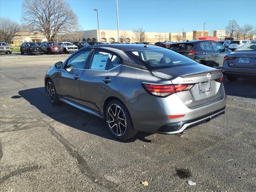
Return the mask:
M84 30L98 28L94 8L98 9L100 29L116 29L115 0L67 0ZM0 0L0 16L20 22L22 0ZM160 1L118 0L119 28L143 28L146 32L225 30L235 19L240 26L256 26L256 0Z

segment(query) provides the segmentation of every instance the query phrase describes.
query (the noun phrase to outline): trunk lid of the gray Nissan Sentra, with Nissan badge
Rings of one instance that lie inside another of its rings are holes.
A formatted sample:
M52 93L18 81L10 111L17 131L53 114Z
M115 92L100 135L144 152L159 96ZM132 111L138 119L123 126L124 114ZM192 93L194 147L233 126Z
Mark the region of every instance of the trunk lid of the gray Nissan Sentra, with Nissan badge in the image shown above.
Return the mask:
M188 108L198 108L224 98L223 84L217 82L222 70L202 64L152 70L152 74L171 80L172 84L194 84L176 94Z

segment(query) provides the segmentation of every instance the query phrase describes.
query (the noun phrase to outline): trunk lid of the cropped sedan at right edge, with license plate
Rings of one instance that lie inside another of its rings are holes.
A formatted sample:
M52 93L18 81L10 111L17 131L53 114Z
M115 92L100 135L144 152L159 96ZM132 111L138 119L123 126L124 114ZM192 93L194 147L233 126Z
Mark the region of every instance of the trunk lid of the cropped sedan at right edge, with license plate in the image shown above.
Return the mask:
M233 58L227 60L230 67L256 68L256 51L236 51L227 57Z

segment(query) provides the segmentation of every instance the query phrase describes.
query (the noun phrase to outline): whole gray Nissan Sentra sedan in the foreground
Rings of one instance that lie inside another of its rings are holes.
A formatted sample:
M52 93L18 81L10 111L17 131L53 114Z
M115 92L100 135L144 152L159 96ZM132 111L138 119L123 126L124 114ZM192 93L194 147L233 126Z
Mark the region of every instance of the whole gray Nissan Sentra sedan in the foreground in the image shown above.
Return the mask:
M138 131L175 134L225 112L221 69L171 50L140 44L86 46L45 76L52 104L59 101L106 120L127 140Z

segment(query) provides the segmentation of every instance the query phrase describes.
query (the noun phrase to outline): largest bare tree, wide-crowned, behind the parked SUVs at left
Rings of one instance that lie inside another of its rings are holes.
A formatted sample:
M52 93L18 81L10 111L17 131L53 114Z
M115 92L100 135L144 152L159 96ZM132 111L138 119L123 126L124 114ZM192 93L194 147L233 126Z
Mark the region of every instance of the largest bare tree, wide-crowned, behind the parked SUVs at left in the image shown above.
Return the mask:
M40 32L48 41L58 34L74 32L77 16L62 0L24 0L22 22L30 31Z

